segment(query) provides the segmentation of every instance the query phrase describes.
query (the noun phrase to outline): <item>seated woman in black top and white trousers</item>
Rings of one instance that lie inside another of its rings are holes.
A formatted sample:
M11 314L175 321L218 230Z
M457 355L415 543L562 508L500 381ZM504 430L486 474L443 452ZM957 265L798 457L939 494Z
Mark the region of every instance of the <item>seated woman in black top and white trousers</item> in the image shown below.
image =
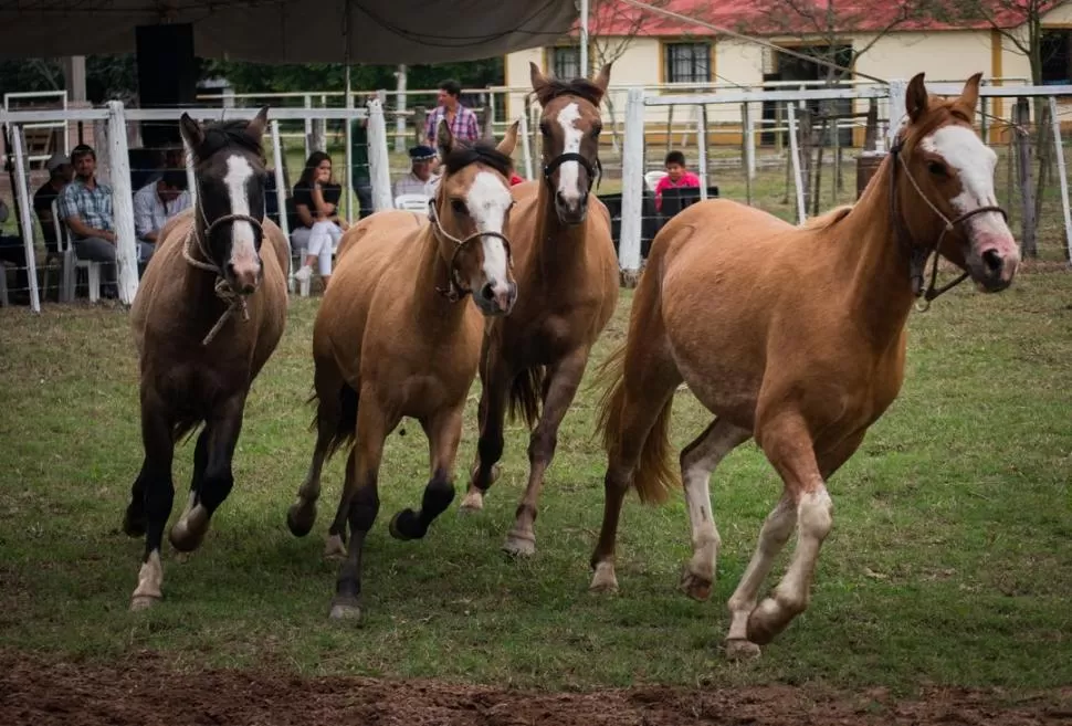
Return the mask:
M332 280L332 255L347 227L338 215L343 188L332 181L332 157L323 151L309 155L293 196L301 224L291 234L291 241L296 250L305 250L305 263L294 276L303 282L309 280L313 263L318 260L320 278L327 287Z

